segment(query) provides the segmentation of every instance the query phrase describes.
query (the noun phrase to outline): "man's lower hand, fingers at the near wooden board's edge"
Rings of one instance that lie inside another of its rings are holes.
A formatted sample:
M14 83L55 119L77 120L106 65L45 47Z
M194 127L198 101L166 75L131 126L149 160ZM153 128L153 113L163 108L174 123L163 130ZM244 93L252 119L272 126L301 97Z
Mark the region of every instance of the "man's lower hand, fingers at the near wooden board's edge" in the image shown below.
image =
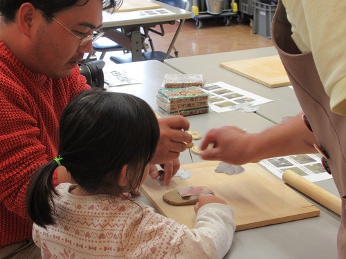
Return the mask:
M170 184L170 180L179 170L180 162L179 159L176 158L170 162L166 162L165 164L161 164L163 170L158 170L154 164L150 164L149 167L149 175L153 179L157 179L160 181L165 181L165 184Z

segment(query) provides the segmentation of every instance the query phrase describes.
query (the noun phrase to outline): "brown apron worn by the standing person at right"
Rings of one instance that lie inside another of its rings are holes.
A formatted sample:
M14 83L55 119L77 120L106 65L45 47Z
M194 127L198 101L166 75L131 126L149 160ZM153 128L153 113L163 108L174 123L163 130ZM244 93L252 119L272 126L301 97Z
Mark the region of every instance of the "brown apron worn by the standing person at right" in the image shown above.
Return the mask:
M322 164L333 175L342 198L338 231L338 258L346 258L346 116L332 113L311 52L302 53L291 38L291 24L281 1L277 6L272 39L291 80L311 130L316 135ZM346 86L345 86L346 87ZM346 88L345 88L346 90Z

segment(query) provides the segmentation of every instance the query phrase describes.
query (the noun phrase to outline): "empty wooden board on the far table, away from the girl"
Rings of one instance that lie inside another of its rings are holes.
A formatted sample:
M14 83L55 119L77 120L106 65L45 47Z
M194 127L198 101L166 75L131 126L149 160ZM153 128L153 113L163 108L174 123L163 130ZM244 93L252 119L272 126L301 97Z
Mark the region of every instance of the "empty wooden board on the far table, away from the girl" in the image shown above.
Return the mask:
M220 66L270 88L291 85L278 55L223 62Z

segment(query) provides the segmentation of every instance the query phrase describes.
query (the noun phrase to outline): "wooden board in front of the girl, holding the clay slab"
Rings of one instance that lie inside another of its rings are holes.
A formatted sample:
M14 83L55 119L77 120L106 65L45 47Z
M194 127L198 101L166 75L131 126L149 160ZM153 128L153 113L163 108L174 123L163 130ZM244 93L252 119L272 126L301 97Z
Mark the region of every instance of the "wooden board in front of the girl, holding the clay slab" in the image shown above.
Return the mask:
M161 214L190 229L194 227L194 205L167 204L163 194L182 187L207 186L233 208L237 231L320 215L318 208L258 164L245 164L244 173L237 175L215 173L218 165L215 161L184 164L181 168L191 172L190 178L174 177L165 186L148 177L142 191Z

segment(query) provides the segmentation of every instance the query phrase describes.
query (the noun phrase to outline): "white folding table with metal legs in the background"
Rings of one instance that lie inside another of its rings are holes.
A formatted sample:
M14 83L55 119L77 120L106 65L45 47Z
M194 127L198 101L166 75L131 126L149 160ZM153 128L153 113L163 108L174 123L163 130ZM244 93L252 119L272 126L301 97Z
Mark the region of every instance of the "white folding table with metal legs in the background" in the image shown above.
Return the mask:
M103 12L104 36L131 50L132 61L142 60L142 35L140 32L141 27L154 27L156 25L164 23L174 24L174 22L178 19L183 20L192 17L192 12L167 5L159 1L149 1L161 5L162 8L170 12L163 15L143 15L143 13L147 10L114 12L112 15L110 15L108 12ZM152 10L156 12L158 9ZM174 41L178 37L179 31L181 30L182 26L183 23L179 23L170 47L167 50L166 58L168 57L168 55L170 55L170 52L172 51L172 48L174 46ZM117 29L125 30L126 34Z

